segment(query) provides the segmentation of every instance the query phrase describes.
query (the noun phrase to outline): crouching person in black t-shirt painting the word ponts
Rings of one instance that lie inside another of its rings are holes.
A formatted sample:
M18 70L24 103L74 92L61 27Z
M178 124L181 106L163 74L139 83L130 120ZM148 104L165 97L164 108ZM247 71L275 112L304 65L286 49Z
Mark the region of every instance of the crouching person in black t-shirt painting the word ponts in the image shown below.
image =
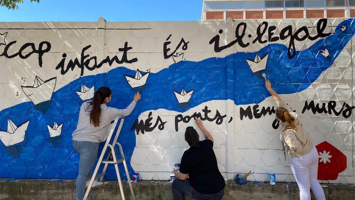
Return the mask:
M206 140L200 141L200 135L193 127L187 127L185 141L189 143L181 158L180 170L173 170L176 179L171 186L175 200L185 199L222 199L225 182L217 166L213 151L213 137L203 127L202 121L195 120ZM190 177L190 178L187 178Z

